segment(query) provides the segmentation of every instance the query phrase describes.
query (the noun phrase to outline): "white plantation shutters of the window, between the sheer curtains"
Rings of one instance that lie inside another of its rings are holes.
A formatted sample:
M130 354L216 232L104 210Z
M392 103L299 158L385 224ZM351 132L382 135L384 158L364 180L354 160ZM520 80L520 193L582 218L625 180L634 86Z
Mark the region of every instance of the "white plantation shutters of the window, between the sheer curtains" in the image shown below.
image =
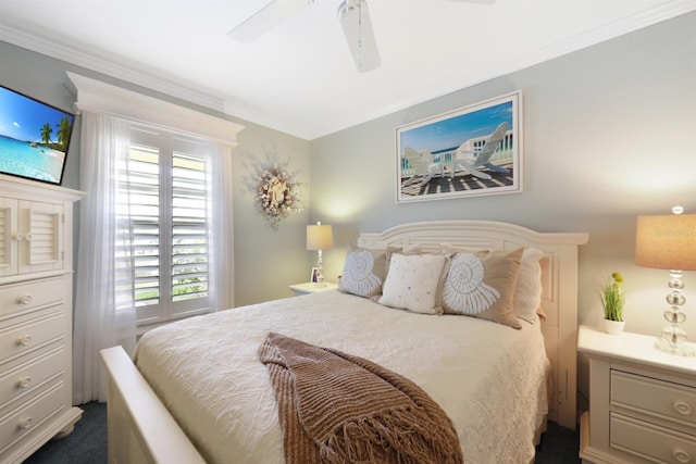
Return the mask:
M139 326L211 311L210 160L179 135L132 128L123 166Z

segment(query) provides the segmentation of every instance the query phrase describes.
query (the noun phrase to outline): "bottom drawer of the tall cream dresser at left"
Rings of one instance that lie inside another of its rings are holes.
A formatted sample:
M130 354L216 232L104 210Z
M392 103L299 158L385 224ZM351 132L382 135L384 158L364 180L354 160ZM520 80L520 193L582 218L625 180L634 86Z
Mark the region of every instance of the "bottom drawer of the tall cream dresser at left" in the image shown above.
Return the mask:
M54 416L64 409L64 390L65 385L58 384L36 396L25 406L2 417L0 423L0 455L24 436L40 429L49 417Z

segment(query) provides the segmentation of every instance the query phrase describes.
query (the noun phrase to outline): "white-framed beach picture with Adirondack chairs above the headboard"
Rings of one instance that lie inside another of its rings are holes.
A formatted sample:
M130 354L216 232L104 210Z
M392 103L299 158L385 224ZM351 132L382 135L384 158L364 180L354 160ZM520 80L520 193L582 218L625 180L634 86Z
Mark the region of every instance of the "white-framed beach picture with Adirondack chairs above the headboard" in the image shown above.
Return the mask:
M397 202L522 191L522 91L396 129Z

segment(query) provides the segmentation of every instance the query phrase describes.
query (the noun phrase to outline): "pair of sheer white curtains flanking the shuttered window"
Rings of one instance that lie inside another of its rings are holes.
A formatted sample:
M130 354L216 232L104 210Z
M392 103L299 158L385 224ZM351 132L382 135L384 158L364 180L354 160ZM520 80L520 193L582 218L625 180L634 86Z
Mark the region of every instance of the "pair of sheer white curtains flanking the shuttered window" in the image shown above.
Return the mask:
M132 229L127 191L130 124L83 111L79 250L73 334L73 402L105 401L107 383L99 350L136 340ZM213 311L234 305L232 147L204 143L211 161L210 296Z

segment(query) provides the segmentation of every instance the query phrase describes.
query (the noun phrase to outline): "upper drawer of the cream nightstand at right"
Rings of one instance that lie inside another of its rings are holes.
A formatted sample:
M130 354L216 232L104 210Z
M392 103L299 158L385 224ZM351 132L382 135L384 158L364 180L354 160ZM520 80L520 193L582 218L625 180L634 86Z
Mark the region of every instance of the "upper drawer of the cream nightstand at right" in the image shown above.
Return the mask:
M679 384L611 371L611 406L696 427L696 389Z

